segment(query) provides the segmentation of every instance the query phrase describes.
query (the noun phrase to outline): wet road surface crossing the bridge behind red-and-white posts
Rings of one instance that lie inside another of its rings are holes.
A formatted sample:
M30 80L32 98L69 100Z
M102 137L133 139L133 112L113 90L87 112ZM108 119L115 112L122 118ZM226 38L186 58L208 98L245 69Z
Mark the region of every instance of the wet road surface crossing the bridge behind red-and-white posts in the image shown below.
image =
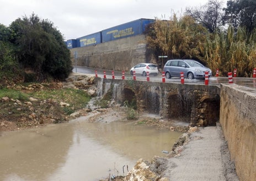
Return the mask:
M83 74L93 74L95 75L95 69L93 68L88 68L88 67L76 67L73 69L73 72L76 73L83 73ZM104 70L97 69L98 77L103 77ZM112 72L111 70L105 70L106 72L106 78L112 79ZM122 79L122 72L114 72L115 74L115 79ZM133 79L132 75L130 73L125 73L125 79ZM142 75L136 75L136 80L142 80L142 81L147 81L147 78ZM172 79L165 79L166 83L180 83L180 78L172 78ZM160 82L162 81L162 74L158 74L157 76L150 76L150 81L157 81ZM205 84L205 80L189 80L185 79L185 84ZM227 77L211 77L209 78L209 85L220 85L220 84L229 84L228 83L228 78ZM250 87L253 89L256 89L256 78L233 78L233 84L237 85L242 85L246 87Z

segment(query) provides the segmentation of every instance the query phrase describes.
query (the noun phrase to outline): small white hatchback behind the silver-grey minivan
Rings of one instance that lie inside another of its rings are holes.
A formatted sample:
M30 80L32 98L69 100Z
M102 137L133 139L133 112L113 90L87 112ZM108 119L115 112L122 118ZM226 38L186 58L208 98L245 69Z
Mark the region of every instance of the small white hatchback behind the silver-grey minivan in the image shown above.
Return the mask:
M157 65L152 64L152 63L140 63L135 65L134 67L131 68L130 74L133 75L135 70L135 74L140 74L143 76L147 75L147 72L150 75L156 76L158 74L158 68Z

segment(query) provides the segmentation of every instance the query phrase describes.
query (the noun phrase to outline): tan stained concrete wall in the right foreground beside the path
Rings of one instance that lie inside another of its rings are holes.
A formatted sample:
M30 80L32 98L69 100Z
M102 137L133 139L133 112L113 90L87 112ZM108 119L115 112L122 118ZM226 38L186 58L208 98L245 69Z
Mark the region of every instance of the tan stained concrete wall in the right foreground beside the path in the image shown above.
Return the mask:
M256 90L221 85L220 123L239 179L256 180Z

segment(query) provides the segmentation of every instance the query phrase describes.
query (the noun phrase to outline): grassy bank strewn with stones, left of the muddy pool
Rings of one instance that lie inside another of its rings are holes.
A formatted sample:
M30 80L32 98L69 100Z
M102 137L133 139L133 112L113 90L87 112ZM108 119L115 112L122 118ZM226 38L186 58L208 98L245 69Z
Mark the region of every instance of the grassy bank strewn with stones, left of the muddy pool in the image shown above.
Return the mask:
M46 119L54 119L54 123L65 120L65 115L85 108L90 96L83 90L75 89L49 89L43 90L16 90L0 89L0 99L9 97L9 102L0 101L0 120L16 122L18 126L36 125L46 122ZM30 101L30 97L38 101ZM19 100L21 103L16 103ZM28 103L31 102L31 106ZM70 104L61 107L60 102ZM31 114L36 117L31 118Z

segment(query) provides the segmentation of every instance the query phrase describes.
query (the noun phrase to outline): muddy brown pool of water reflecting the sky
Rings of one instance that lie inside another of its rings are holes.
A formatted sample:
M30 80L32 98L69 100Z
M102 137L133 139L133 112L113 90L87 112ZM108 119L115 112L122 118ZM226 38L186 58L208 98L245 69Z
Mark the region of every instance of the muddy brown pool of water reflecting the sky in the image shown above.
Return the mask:
M0 133L0 180L99 180L164 156L182 133L132 122L70 123Z

